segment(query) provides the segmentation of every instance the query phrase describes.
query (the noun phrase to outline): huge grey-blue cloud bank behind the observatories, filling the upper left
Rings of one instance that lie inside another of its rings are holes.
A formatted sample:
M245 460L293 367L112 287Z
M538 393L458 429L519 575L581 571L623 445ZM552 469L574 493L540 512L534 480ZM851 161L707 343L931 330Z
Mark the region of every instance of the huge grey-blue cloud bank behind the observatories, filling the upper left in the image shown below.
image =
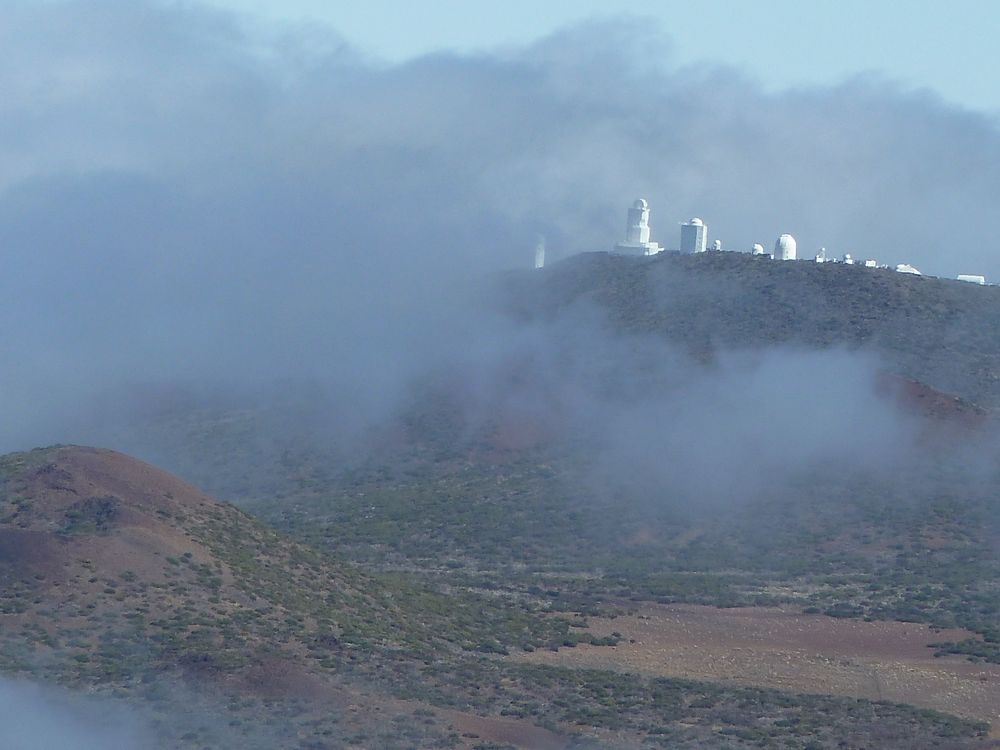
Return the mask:
M641 21L394 66L244 24L124 0L5 13L5 448L86 438L80 404L135 383L310 379L380 419L429 363L510 335L470 280L528 266L539 234L551 258L608 247L637 194L668 245L699 214L727 247L792 231L1000 273L996 124L926 93L767 94L672 67Z

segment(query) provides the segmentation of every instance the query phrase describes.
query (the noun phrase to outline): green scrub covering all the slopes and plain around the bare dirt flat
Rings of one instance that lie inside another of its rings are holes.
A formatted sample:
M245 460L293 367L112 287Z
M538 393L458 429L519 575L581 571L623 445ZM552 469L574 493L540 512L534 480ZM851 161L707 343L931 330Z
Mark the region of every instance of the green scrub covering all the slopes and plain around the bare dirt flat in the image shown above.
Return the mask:
M730 254L585 256L505 283L519 319L586 297L619 330L704 363L737 342L873 347L895 373L960 396L942 398L963 429L1000 404L990 288ZM715 304L699 306L708 287ZM762 305L788 315L763 327ZM0 458L0 669L140 701L161 724L197 685L203 714L230 726L161 726L175 747L226 733L246 747L504 744L433 710L549 727L574 747L985 746L981 725L904 706L505 657L613 646L588 617L685 602L961 627L974 637L942 638L939 654L1000 663L994 456L803 473L699 510L587 481L590 456L571 441L498 445L497 425L470 428L444 391L415 386L392 438L347 458L270 434L252 409L147 419L150 455L241 509L144 507L172 546L113 565L94 545L135 522L128 498L74 495L60 448ZM73 492L53 510L40 486ZM352 713L358 700L384 713ZM281 745L289 736L298 744Z

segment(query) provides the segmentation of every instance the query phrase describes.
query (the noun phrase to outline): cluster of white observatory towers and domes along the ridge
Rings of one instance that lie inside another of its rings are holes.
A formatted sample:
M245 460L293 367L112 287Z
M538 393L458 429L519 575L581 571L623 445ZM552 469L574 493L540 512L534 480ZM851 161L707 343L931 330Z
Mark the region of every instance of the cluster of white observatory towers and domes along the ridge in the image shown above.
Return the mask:
M615 245L616 253L626 255L656 255L665 250L658 243L650 240L649 235L649 203L644 198L639 198L628 210L628 218L625 223L625 239ZM715 240L712 246L708 245L708 227L701 219L694 218L681 224L680 252L682 253L704 253L709 250L722 250L722 243ZM750 249L753 255L766 255L775 260L797 260L798 248L795 238L790 234L782 234L775 240L774 250L766 252L761 244L754 244ZM874 259L855 260L850 253L844 254L840 258L828 258L826 248L820 248L813 257L817 263L845 263L848 265L861 265L867 268L888 268L880 265ZM544 262L544 260L542 261ZM538 258L536 256L536 265ZM895 267L900 273L910 273L920 275L920 271L908 263L900 263ZM983 276L961 275L959 281L969 281L976 284L985 284Z

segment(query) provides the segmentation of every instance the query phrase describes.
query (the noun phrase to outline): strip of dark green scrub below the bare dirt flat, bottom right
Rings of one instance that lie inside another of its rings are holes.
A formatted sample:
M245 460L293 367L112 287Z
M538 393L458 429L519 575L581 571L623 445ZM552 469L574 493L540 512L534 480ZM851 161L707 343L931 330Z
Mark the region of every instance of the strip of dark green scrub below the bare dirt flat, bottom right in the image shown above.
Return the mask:
M642 679L596 670L487 662L431 666L422 690L439 702L543 725L626 731L650 747L975 746L988 727L933 711L826 696L723 687L692 680Z

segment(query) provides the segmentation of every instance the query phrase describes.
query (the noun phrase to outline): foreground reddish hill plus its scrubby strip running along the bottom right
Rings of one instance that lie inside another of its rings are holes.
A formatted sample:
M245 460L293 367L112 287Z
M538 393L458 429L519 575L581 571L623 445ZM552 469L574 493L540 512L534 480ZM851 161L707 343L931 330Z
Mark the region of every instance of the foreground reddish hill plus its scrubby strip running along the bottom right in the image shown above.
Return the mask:
M528 597L355 573L111 451L0 458L0 514L0 672L124 703L143 747L989 746L905 706L498 660L515 631L586 634Z

